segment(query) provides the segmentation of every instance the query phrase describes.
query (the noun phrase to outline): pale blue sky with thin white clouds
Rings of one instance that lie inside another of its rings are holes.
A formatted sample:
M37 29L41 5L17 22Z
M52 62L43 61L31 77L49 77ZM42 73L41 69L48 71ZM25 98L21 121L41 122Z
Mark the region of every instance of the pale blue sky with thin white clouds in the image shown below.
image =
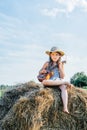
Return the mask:
M0 0L0 84L38 82L53 46L66 54L66 80L87 74L87 0Z

